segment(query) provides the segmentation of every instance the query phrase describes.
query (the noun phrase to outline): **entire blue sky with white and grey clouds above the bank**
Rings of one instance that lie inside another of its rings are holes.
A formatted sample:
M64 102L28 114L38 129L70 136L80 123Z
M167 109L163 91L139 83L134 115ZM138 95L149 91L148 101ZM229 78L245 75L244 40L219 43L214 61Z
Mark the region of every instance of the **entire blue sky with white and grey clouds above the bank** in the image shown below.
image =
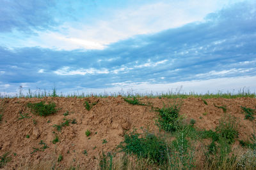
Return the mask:
M0 0L0 94L256 92L254 0Z

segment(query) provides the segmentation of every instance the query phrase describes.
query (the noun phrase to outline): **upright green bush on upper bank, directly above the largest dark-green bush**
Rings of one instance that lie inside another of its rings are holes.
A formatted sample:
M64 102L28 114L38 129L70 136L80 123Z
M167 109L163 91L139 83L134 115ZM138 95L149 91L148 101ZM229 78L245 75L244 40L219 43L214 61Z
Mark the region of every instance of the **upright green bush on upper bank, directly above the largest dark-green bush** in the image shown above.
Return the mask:
M175 132L180 126L180 117L179 104L173 104L169 107L163 107L161 109L157 109L159 112L158 120L156 122L159 129L164 130L166 132Z

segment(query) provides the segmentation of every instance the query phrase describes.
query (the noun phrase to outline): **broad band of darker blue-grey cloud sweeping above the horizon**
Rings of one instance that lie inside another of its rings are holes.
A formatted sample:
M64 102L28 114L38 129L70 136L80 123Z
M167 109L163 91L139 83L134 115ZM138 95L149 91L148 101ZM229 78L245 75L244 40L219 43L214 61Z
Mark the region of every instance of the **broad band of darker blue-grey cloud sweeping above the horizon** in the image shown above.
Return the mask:
M35 23L33 29L56 22L49 18ZM9 27L1 28L1 31L13 29L18 21L11 21ZM211 13L201 22L132 36L102 50L52 50L40 46L10 49L2 46L0 92L13 92L19 85L51 89L54 83L58 89L67 91L125 85L132 88L161 84L166 88L164 85L177 82L217 81L220 78L249 78L252 82L256 75L255 46L256 3L246 1ZM244 86L248 87L248 84L244 82Z

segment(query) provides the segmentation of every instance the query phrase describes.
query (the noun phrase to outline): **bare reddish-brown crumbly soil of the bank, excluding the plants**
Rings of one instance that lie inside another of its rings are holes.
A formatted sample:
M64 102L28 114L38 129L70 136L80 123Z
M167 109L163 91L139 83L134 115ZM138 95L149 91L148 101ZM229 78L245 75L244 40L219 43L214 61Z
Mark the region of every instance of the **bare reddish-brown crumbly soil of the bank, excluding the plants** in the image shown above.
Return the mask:
M180 99L183 101L180 114L187 120L196 120L195 126L200 129L215 129L218 120L223 117L223 110L217 106L227 106L227 113L237 117L239 121L239 138L246 139L253 133L255 122L244 120L244 114L240 106L255 108L256 99L236 98L236 99L205 99L208 105L204 104L200 98ZM54 102L56 108L61 108L54 115L40 117L33 115L26 106L28 103L38 103L40 101ZM90 111L84 107L84 101L91 103L98 102ZM163 103L173 103L170 99L140 98L141 103L151 103L151 106L162 108ZM55 162L56 167L80 166L86 169L97 167L97 158L100 152L115 150L116 146L124 140L124 133L138 129L148 128L150 131L158 131L155 125L157 112L152 111L151 106L132 105L124 101L121 96L107 98L66 98L66 97L45 97L38 98L13 98L0 99L0 114L3 115L0 122L0 156L10 152L12 160L8 162L4 169L17 169L29 164L39 164L44 161ZM24 115L29 113L31 118L19 120L20 111ZM63 113L69 111L65 117ZM203 114L207 113L207 114ZM64 122L63 118L73 120L76 118L77 124L69 124L63 127L61 132L56 131L54 124ZM33 124L33 120L37 124ZM48 122L48 121L51 122ZM86 130L92 134L86 136ZM255 130L255 129L254 129ZM55 137L53 131L58 134L60 142L53 144ZM26 138L29 135L30 138ZM102 143L106 139L108 143ZM49 148L33 154L33 148L40 148L38 143L43 140ZM86 150L88 155L84 155ZM17 155L13 155L17 153ZM63 155L63 160L57 162L58 155Z

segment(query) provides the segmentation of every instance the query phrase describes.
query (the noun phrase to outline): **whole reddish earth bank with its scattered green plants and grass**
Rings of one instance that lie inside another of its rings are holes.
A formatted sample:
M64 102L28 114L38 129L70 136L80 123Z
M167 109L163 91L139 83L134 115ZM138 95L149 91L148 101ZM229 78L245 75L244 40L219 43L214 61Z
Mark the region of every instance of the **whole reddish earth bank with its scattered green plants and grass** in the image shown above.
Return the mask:
M255 94L0 98L0 169L256 169Z

